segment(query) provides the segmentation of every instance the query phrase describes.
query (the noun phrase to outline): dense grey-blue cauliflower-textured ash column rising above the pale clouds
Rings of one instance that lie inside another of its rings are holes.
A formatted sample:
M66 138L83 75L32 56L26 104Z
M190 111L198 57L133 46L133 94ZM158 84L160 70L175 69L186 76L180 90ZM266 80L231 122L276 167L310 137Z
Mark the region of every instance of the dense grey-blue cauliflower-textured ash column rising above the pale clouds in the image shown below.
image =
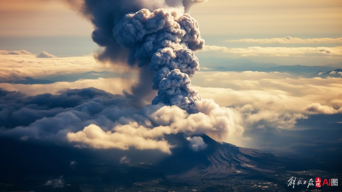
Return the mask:
M159 91L153 104L162 102L198 112L194 102L201 96L190 87L189 75L199 70L192 50L201 49L204 40L195 19L188 14L175 17L165 9L152 13L142 9L125 15L113 32L120 45L132 50L130 57L138 59L139 66L151 63L148 69L156 71L153 89Z

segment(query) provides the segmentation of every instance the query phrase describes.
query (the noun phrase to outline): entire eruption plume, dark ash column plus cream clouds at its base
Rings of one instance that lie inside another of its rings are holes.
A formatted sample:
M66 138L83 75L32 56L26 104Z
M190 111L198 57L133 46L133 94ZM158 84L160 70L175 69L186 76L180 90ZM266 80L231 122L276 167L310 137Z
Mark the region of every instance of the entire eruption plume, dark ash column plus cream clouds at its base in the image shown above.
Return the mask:
M114 114L120 115L111 124L99 116L101 120L83 130L68 132L68 142L94 148L157 149L169 154L174 145L166 135L171 134L182 133L192 145L203 146L193 150L206 146L194 135L240 143L244 131L241 115L202 99L191 87L190 77L199 70L194 51L203 48L204 40L197 21L186 12L192 4L204 1L82 0L81 10L95 26L92 38L104 48L98 59L138 66L139 81L131 87L132 94L124 95L139 109L115 109ZM113 116L107 114L110 112L106 110L104 115Z

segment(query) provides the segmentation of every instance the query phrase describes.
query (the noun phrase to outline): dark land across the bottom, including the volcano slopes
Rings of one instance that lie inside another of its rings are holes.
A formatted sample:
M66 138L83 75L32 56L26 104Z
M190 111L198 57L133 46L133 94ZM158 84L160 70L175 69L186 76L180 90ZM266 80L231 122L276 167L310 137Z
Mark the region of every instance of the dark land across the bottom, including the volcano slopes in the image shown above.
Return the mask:
M302 191L314 186L288 185L297 180L342 178L334 161L285 157L219 143L201 136L207 148L193 151L182 135L177 148L157 163L119 164L94 158L90 149L41 146L1 138L1 192L151 192L151 191ZM23 161L25 159L25 161ZM37 160L38 159L38 160ZM77 164L71 165L70 159ZM50 184L47 181L51 181ZM342 191L341 185L321 191Z

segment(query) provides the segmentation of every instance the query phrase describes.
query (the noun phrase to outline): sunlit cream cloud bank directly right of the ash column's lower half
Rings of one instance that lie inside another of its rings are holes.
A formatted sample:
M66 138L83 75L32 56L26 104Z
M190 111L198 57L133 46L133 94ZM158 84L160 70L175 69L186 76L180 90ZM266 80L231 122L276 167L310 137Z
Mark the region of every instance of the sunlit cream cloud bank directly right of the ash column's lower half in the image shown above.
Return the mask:
M310 114L342 110L342 78L298 78L286 73L198 72L194 88L220 106L234 106L245 128L293 128Z

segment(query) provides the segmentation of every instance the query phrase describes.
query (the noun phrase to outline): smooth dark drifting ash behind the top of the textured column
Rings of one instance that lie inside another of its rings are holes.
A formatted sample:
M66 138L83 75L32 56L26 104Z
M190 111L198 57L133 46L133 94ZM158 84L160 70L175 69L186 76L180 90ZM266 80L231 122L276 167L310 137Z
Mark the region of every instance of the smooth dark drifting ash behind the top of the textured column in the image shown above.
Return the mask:
M169 12L188 12L194 3L206 0L66 0L94 25L92 39L104 48L100 60L126 61L129 50L122 48L113 36L113 29L125 14L146 8L154 11L166 8Z

